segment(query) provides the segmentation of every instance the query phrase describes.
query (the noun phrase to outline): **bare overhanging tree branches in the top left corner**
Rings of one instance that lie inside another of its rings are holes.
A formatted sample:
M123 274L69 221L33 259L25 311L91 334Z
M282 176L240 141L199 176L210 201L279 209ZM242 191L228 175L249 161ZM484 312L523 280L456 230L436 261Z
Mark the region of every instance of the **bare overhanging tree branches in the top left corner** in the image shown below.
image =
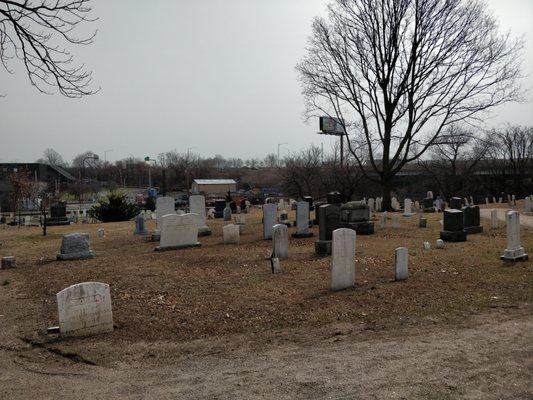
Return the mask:
M70 52L60 47L92 43L96 34L76 36L81 22L91 21L89 0L0 0L0 61L20 59L33 86L42 93L56 87L67 97L94 93L91 72L74 65Z

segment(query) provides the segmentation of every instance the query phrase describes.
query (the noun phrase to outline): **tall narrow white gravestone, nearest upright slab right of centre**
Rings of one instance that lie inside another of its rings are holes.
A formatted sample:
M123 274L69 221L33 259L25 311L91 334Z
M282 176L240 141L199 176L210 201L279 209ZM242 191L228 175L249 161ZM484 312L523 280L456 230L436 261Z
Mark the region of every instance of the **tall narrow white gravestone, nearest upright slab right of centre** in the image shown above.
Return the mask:
M356 232L348 228L333 231L331 290L343 290L355 284Z

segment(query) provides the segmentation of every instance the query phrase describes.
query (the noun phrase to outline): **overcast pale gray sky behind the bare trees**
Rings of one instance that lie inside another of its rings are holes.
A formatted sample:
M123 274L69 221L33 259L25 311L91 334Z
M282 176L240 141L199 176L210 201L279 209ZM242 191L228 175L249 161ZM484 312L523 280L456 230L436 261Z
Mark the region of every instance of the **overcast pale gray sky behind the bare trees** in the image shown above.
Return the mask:
M45 148L70 161L92 150L108 160L169 150L204 156L282 155L314 143L302 119L295 64L324 0L95 0L90 46L73 48L101 91L47 96L19 63L0 70L0 162L34 161ZM504 30L525 35L524 87L533 87L533 0L489 0ZM530 94L530 97L533 93ZM533 125L533 102L507 105L489 121Z

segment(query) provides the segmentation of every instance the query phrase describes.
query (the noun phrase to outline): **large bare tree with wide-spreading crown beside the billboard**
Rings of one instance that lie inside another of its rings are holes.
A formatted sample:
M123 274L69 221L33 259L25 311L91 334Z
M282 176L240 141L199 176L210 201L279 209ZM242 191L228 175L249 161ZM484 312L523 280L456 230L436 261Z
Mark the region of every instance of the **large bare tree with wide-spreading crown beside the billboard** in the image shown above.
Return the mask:
M522 47L479 0L335 0L297 69L307 116L358 139L349 149L390 209L394 176L443 128L520 97Z

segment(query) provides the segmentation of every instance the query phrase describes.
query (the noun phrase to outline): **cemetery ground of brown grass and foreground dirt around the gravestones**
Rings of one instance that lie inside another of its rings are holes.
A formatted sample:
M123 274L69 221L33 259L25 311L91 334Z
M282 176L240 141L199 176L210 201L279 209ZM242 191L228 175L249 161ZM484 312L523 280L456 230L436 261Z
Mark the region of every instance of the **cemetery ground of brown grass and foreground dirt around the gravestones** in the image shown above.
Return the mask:
M202 247L161 253L133 222L0 229L0 253L18 266L0 270L0 398L533 398L533 264L499 260L504 223L482 219L484 233L440 250L442 214L425 214L427 228L396 214L399 229L379 229L378 214L376 233L357 236L356 286L340 292L330 257L315 255L317 227L289 238L273 275L257 209L238 245L222 244L227 222L208 220ZM96 257L56 261L76 231ZM394 282L400 246L410 276ZM48 335L56 293L89 281L111 286L114 332Z

